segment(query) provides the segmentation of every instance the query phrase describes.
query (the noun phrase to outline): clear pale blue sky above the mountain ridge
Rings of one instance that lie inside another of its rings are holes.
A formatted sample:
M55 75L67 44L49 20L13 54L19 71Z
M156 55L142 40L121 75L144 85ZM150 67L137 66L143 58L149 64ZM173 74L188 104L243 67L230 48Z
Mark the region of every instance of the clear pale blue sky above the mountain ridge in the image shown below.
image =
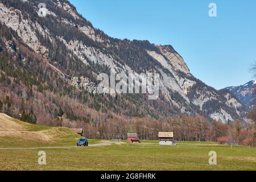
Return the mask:
M192 74L216 89L253 80L256 1L70 0L80 14L114 38L171 44ZM209 3L217 17L208 15Z

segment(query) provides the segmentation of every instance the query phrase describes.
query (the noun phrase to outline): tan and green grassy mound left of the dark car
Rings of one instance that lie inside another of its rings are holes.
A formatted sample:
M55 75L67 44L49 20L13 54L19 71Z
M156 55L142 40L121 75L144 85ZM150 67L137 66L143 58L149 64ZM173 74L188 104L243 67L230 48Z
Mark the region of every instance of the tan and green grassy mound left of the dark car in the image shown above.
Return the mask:
M0 114L0 147L74 146L79 138L64 127L32 125Z

